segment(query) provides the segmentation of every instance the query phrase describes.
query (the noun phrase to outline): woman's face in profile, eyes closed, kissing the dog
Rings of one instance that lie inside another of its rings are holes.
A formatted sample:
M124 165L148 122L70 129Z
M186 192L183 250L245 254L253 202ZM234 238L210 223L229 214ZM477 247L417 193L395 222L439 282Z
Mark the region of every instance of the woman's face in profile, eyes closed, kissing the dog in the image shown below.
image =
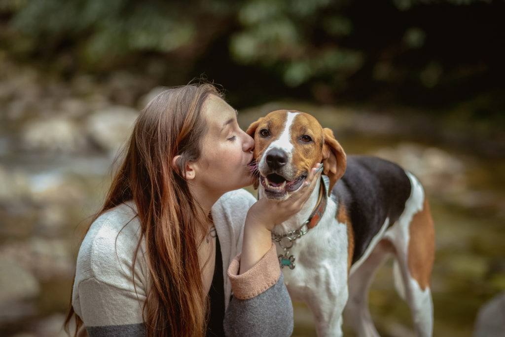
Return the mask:
M209 191L222 194L252 184L249 171L254 139L242 131L237 113L216 95L210 95L202 109L207 134L202 153L195 162L195 182Z

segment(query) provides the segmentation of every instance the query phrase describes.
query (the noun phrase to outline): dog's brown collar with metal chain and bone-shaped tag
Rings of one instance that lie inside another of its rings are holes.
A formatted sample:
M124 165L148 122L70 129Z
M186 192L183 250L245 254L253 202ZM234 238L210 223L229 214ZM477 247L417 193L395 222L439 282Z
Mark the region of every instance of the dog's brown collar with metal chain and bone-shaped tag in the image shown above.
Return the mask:
M291 230L289 232L283 233L283 234L274 234L272 233L272 240L275 242L279 243L279 246L284 250L284 255L279 255L279 266L284 268L284 266L289 267L289 269L294 269L294 256L288 256L289 251L291 247L294 245L294 241L297 238L300 238L301 236L307 234L307 232L316 227L316 225L319 223L319 220L321 220L324 211L326 210L326 205L328 204L328 188L330 184L330 179L323 175L321 176L321 188L319 189L319 201L318 205L310 215L309 219L305 221L300 228Z

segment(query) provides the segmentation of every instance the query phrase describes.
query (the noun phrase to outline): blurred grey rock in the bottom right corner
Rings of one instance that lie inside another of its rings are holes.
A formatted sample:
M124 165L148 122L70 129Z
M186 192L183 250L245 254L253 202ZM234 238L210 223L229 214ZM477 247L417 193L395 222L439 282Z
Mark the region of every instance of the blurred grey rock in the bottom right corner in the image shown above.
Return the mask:
M484 304L477 313L474 337L505 337L505 292Z

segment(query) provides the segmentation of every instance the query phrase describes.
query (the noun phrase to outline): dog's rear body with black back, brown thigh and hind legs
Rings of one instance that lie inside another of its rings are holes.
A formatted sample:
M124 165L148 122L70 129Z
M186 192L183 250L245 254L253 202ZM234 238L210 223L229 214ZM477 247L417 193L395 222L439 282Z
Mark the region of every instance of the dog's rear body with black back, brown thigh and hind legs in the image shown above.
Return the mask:
M392 256L394 283L411 308L416 333L431 336L434 227L420 182L386 160L347 156L347 169L332 195L339 205L337 219L348 219L352 228L345 311L355 330L360 336L378 335L369 313L368 287L377 268Z

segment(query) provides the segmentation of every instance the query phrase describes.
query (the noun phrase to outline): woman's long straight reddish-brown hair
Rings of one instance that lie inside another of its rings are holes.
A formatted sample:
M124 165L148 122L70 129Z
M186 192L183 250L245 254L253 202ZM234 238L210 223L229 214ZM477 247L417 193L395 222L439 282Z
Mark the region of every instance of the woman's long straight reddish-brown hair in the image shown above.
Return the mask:
M212 84L190 84L165 90L147 104L135 122L104 206L94 218L135 201L142 235L133 263L145 240L150 284L143 320L148 336L205 334L208 303L197 253L206 219L183 177L185 163L200 157L206 133L201 108L210 94L221 97ZM177 155L181 157L174 169ZM70 306L67 331L74 315ZM75 317L79 328L82 321Z

